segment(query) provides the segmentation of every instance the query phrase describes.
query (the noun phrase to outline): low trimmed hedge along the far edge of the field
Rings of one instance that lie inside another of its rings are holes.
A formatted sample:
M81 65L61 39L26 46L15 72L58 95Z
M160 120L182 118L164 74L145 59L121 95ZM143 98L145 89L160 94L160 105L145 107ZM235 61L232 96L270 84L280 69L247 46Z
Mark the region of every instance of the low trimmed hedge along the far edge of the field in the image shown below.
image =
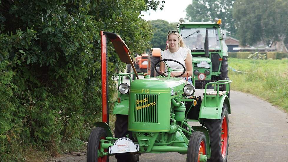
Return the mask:
M247 59L249 54L254 52L228 52L228 57L238 58L238 59ZM267 59L282 59L287 58L288 54L283 52L260 52L261 54L267 53Z

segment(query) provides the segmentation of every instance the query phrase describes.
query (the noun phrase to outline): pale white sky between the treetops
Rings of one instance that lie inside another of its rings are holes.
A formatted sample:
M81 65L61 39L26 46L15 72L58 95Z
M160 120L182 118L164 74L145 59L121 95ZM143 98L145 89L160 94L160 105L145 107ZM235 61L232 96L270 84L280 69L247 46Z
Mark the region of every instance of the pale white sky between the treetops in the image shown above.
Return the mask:
M150 15L147 13L142 13L141 16L145 20L157 20L162 19L168 22L179 22L180 18L185 19L186 17L186 7L192 4L192 0L165 0L164 8L161 11L157 9L156 11L150 11Z

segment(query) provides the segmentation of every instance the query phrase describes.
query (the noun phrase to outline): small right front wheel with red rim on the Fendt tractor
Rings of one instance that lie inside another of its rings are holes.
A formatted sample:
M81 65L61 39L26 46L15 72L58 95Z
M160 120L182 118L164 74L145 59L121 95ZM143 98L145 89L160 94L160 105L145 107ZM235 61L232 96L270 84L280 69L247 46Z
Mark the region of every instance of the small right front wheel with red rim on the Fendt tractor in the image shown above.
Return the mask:
M203 132L195 131L190 136L186 162L200 162L201 155L206 155L206 137Z

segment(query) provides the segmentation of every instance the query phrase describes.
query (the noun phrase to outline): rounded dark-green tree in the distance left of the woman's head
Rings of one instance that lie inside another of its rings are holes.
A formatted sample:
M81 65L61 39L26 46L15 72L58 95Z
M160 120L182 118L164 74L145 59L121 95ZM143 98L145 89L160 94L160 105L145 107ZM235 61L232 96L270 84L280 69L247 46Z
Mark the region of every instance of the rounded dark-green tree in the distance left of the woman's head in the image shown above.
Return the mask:
M161 48L164 50L166 48L166 40L169 30L176 30L177 23L169 23L165 20L151 20L150 24L152 26L153 38L151 40L151 45L153 48Z

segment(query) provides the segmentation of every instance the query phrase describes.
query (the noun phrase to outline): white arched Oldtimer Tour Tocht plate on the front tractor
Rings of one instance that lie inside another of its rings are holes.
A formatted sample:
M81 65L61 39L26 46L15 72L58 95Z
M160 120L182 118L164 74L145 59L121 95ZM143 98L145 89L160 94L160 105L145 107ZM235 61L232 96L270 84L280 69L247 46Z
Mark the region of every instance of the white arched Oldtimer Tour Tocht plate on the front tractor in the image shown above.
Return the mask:
M109 146L109 153L128 153L138 152L139 145L134 144L133 141L127 137L118 138L113 146Z

